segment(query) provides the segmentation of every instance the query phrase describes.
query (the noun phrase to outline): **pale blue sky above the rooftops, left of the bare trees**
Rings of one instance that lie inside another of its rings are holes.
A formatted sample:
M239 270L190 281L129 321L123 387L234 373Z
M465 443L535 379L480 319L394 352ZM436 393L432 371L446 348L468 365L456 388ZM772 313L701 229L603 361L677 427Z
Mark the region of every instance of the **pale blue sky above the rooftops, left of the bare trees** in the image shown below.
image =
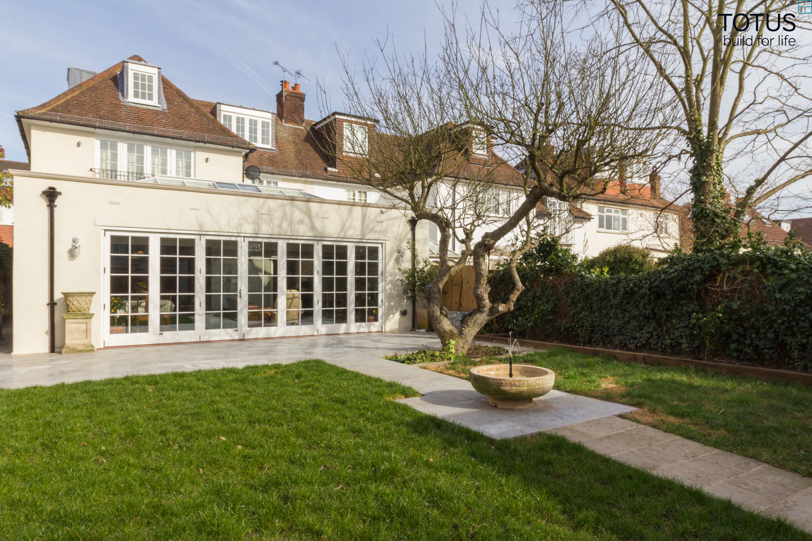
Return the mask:
M490 2L510 9L512 0ZM479 0L460 11L477 15ZM316 77L339 109L339 51L360 67L373 38L388 32L401 51L419 51L443 36L434 0L409 2L6 2L0 41L0 144L6 159L26 161L14 119L67 90L67 67L102 71L140 54L162 67L189 96L276 108L282 72L302 70L308 118L320 118Z

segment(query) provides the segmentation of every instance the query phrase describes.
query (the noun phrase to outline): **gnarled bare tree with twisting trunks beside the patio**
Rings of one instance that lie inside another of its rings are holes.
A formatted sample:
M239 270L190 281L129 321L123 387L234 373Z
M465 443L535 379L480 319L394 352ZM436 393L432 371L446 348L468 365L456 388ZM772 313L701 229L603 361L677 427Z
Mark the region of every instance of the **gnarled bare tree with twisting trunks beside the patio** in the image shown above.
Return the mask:
M528 4L516 14L508 32L487 6L477 28L444 13L437 62L425 52L400 56L387 42L357 77L344 61L343 105L378 124L367 155L333 155L353 178L436 226L439 266L426 298L443 345L454 341L462 353L524 290L516 263L535 246L542 198L602 193L625 164L659 148L666 131L650 126L668 122L656 85L641 88L645 74L607 54L598 36L580 48L546 39L552 21L569 32L558 6ZM524 173L506 159L522 161ZM497 187L512 196L495 195ZM490 298L489 255L506 245L512 290ZM469 264L477 308L455 328L442 289Z

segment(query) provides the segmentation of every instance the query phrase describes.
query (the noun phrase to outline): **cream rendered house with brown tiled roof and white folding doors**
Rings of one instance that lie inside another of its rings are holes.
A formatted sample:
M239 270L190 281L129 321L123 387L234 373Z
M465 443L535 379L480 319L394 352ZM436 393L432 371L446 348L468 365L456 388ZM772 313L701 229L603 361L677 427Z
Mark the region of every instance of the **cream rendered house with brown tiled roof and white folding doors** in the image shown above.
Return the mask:
M70 68L68 84L16 115L30 170L10 168L15 354L50 349L50 187L57 349L62 291L96 293L96 347L410 328L396 280L408 213L323 151L369 152L376 121L306 119L304 92L287 81L274 110L194 100L138 56ZM498 170L498 217L519 175L484 146L473 138L470 167ZM423 254L432 229L417 224Z

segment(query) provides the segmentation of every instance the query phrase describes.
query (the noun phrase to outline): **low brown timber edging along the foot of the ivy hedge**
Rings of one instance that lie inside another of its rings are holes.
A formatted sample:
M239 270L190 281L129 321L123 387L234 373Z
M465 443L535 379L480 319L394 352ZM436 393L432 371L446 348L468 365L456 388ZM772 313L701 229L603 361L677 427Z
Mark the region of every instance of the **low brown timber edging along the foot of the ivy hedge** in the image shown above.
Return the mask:
M481 334L477 335L477 340L493 341L495 343L507 344L508 337L499 334ZM779 368L767 367L749 367L742 364L727 364L715 363L713 361L701 361L698 359L685 359L683 357L671 357L668 355L656 355L648 353L640 353L637 351L623 351L623 350L604 350L598 347L588 346L572 346L570 344L559 344L558 342L545 342L537 340L525 340L522 338L516 339L520 346L532 347L537 349L550 349L553 347L563 347L567 350L572 350L577 353L590 354L590 355L607 355L620 361L621 363L641 363L641 364L659 364L678 367L700 367L707 370L722 372L723 374L733 374L736 376L753 376L761 380L779 380L779 381L800 381L801 383L812 385L812 374L805 372L795 372L791 370L781 370Z

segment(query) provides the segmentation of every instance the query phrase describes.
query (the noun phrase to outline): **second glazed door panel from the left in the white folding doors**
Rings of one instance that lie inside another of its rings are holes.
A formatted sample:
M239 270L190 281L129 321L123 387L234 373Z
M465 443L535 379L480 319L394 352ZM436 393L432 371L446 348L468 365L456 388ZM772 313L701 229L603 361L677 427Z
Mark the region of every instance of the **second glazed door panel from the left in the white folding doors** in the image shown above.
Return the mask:
M195 329L195 239L161 238L160 330Z

